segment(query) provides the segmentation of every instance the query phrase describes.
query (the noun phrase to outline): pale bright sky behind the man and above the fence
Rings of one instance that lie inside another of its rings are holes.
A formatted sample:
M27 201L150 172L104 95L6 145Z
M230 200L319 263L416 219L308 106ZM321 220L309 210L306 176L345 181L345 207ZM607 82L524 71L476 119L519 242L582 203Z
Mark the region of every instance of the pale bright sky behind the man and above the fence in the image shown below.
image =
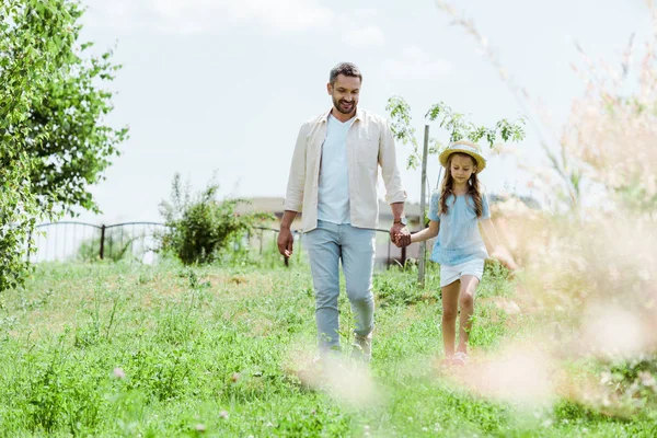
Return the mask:
M457 2L453 2L457 4ZM196 191L217 175L221 196L284 197L300 125L331 107L326 82L341 61L364 74L360 107L387 116L403 96L417 132L424 114L445 102L477 124L523 114L497 70L465 31L433 0L87 0L81 42L113 48L124 67L107 123L127 126L120 146L91 188L101 215L93 223L159 221L175 173ZM462 0L515 81L563 122L584 85L577 42L615 66L630 35L647 37L643 0ZM431 126L442 141L445 132ZM521 160L539 160L528 126ZM405 169L411 149L397 145L408 200L420 197L419 170ZM532 193L531 176L512 159L492 157L482 181L489 193ZM438 177L431 158L428 177ZM380 197L383 197L381 185Z

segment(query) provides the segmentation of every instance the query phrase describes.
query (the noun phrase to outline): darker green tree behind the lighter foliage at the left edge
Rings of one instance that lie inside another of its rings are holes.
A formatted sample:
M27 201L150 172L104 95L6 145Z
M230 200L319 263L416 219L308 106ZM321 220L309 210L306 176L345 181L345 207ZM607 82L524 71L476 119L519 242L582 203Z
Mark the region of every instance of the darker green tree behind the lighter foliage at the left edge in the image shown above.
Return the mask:
M56 3L70 16L71 42L78 41L82 8L71 1ZM104 122L113 110L113 93L101 85L112 81L120 66L111 62L112 51L82 57L91 47L82 44L78 54L73 44L62 46L67 56L61 57L61 73L43 83L32 101L31 141L25 145L38 158L31 172L33 191L71 214L74 207L99 212L88 186L102 178L128 132Z

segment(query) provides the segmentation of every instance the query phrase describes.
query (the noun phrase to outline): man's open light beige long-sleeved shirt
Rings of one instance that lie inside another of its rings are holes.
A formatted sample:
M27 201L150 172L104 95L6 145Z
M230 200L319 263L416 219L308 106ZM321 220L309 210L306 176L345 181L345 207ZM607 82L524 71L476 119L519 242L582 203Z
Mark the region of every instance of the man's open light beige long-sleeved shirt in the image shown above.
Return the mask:
M301 126L292 155L284 209L302 211L301 228L304 232L318 227L322 145L330 114L328 111ZM373 229L379 224L379 166L388 204L405 201L406 192L402 187L388 122L362 110L357 110L355 117L347 134L350 222L354 227Z

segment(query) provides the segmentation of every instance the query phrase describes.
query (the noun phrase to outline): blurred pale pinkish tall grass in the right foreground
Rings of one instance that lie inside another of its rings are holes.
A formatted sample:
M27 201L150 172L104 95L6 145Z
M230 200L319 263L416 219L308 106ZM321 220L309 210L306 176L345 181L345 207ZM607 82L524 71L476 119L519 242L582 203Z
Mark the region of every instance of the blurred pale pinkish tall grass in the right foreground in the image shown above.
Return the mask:
M436 4L482 45L527 112L540 114L531 91L515 83L474 22L450 2ZM618 62L596 62L578 47L581 60L574 69L585 87L563 127L553 129L533 117L545 164L532 172L538 188L552 200L552 211L532 212L512 201L498 209L507 221L502 228L525 267L518 302L546 327L532 335L533 345L515 346L521 353L515 361L548 364L544 371L558 376L549 393L621 418L657 406L653 0L646 1L646 14L652 14L653 34L645 44L631 37ZM529 378L523 385L538 385L539 380Z

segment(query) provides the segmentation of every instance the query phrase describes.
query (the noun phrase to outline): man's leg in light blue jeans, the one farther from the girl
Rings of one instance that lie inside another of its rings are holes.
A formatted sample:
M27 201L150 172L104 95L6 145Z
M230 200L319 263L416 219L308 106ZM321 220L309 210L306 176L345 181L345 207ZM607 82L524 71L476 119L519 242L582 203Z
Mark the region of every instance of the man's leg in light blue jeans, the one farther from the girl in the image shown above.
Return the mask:
M339 246L337 226L323 224L304 235L315 290L315 319L321 353L339 348L337 298Z

